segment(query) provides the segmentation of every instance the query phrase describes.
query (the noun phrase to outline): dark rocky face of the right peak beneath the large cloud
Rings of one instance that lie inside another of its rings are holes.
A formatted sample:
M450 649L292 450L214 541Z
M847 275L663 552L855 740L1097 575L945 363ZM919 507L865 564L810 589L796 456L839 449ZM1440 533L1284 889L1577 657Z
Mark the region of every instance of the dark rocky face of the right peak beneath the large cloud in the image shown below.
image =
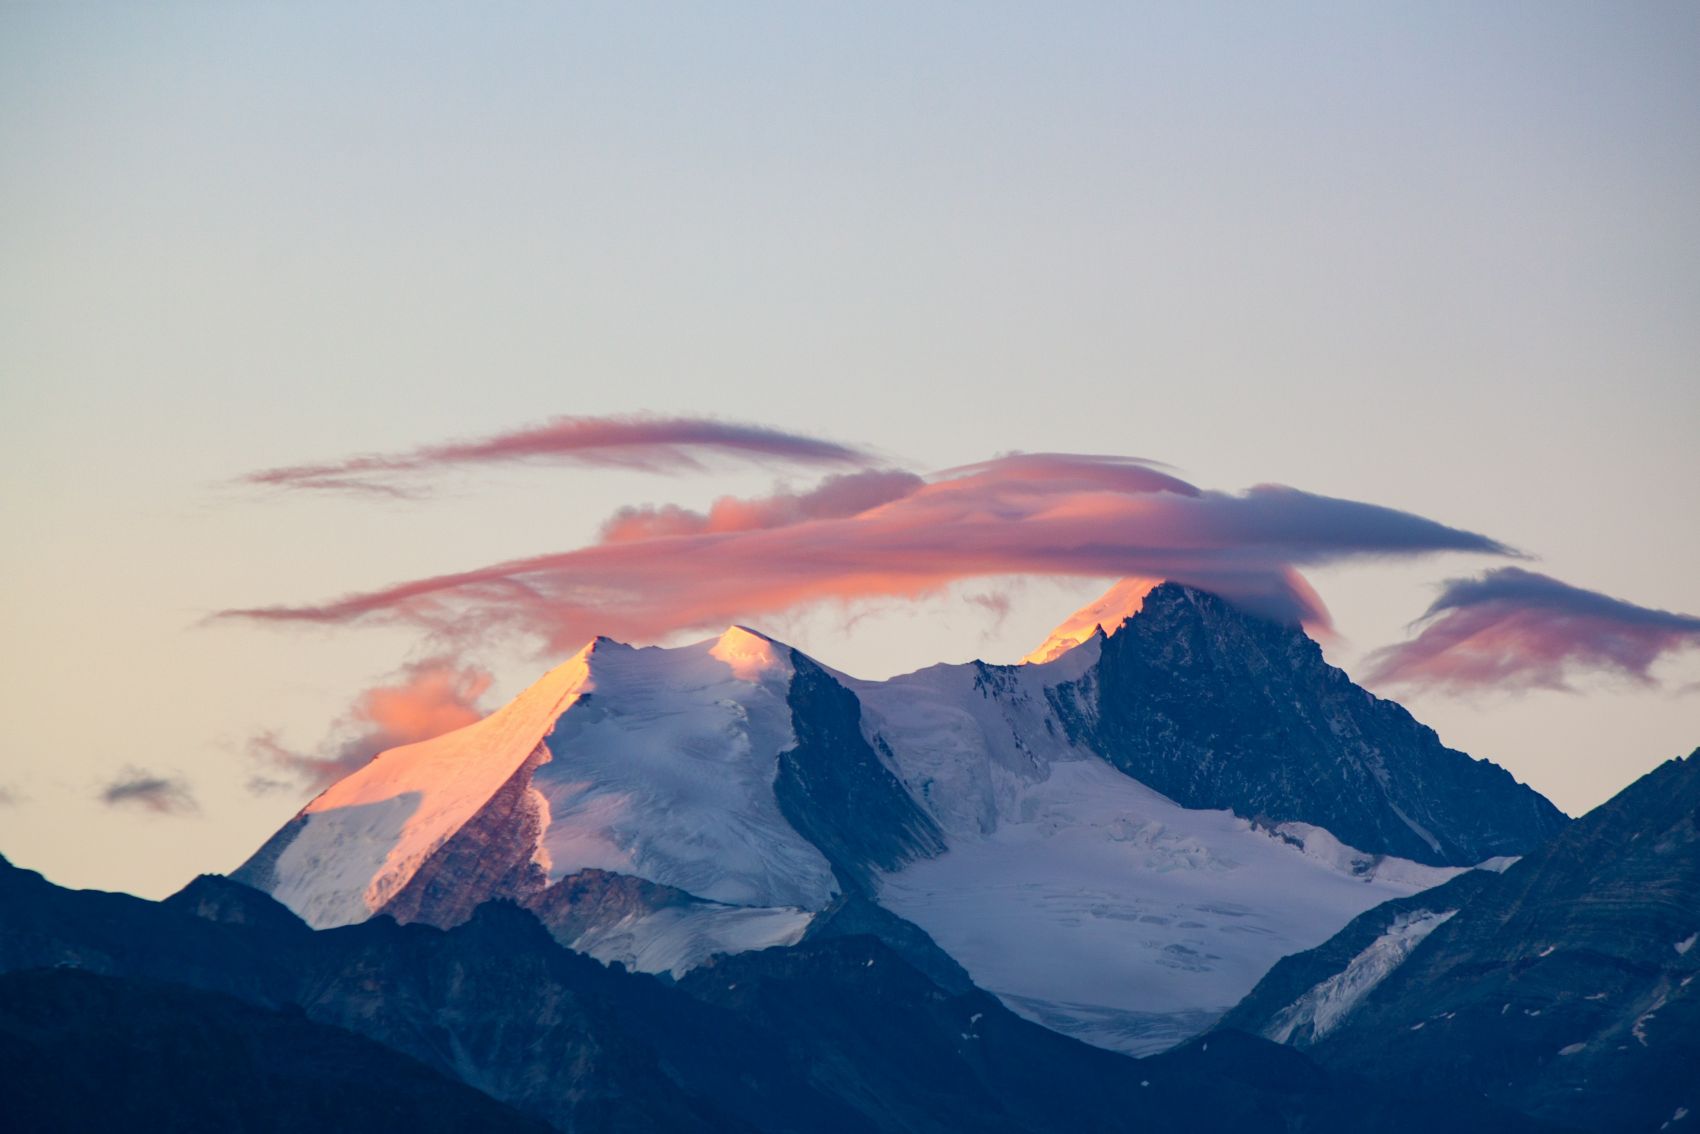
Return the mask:
M1103 639L1069 721L1187 808L1328 828L1374 853L1472 865L1540 845L1564 814L1504 768L1440 743L1290 626L1164 583Z

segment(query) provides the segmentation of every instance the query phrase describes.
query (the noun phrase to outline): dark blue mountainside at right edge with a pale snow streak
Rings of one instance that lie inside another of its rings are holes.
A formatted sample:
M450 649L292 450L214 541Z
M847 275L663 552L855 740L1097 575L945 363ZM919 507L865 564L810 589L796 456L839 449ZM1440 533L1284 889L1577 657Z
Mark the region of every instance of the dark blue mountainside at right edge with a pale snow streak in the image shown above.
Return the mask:
M1372 910L1224 1020L1591 1131L1700 1115L1700 751L1503 876Z

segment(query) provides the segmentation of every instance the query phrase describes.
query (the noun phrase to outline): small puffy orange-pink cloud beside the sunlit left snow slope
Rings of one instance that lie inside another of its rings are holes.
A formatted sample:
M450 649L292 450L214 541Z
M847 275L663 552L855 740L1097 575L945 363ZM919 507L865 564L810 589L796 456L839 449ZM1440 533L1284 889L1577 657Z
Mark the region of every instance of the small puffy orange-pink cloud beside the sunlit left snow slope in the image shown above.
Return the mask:
M484 670L447 656L427 658L355 697L333 729L340 740L326 741L318 751L296 751L274 733L255 736L248 751L269 768L318 791L364 767L381 751L442 736L481 719L484 712L478 700L488 689L490 673ZM248 785L257 792L289 787L287 782L265 775L253 777Z

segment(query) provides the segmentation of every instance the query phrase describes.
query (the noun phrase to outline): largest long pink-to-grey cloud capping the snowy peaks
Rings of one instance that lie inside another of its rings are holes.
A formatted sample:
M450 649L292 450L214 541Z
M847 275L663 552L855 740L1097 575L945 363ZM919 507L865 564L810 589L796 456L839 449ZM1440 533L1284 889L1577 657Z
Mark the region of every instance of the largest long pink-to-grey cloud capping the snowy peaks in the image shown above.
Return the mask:
M626 512L588 547L221 617L403 622L450 639L518 632L559 655L595 634L654 641L821 602L915 598L971 578L1137 575L1326 629L1328 612L1295 568L1515 554L1408 512L1273 485L1205 491L1122 457L1012 456L874 486L842 478L814 493L721 502L707 515ZM724 519L733 513L760 522Z

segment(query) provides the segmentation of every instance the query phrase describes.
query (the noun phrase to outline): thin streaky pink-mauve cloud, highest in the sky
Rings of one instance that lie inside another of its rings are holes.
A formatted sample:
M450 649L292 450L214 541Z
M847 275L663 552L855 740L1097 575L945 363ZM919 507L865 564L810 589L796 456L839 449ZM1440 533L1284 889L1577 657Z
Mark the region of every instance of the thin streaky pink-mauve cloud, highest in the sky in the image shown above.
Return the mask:
M646 415L561 417L478 440L262 469L241 479L270 488L413 496L416 478L456 466L559 462L685 473L706 468L714 457L845 468L879 462L852 445L765 425Z

